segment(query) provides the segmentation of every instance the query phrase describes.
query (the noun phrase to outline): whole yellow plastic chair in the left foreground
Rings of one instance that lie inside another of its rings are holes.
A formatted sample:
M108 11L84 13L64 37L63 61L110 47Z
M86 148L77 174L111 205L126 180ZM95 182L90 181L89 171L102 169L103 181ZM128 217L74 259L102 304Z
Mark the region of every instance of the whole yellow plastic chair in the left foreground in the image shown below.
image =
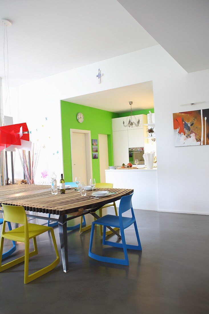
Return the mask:
M3 270L6 270L10 267L13 267L19 263L24 262L24 284L29 283L30 281L44 275L45 273L48 273L50 270L54 269L56 265L59 263L59 253L56 245L56 239L54 235L54 230L52 227L46 227L42 225L35 225L35 224L28 224L28 220L25 214L25 210L22 206L9 206L9 205L3 205L4 210L4 221L3 221L3 228L2 228L2 235L1 235L1 242L0 242L0 272ZM21 224L23 226L18 227L16 229L13 229L11 231L5 231L5 225L6 221L14 222L17 224ZM40 234L51 231L51 237L53 240L55 252L56 252L56 260L51 263L50 265L41 268L40 270L36 271L35 273L28 274L28 266L29 266L29 257L37 255L37 243L36 243L36 236L39 236ZM23 242L25 244L25 255L22 257L19 257L11 262L8 262L4 265L2 265L2 254L3 254L3 243L4 238ZM34 251L29 252L29 239L33 239L34 244Z

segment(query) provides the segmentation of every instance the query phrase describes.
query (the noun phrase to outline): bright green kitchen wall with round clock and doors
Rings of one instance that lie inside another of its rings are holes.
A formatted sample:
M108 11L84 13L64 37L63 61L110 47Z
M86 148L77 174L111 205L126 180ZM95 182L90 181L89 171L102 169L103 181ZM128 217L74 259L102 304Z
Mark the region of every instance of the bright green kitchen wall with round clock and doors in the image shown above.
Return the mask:
M84 115L83 123L79 123L77 121L76 117L78 112L82 112ZM114 112L100 110L61 100L62 149L63 149L64 178L66 182L72 181L70 129L90 130L91 139L97 140L98 134L107 134L109 165L113 165L111 119L118 117L119 115ZM98 155L99 155L99 141L98 141ZM92 159L92 172L96 182L100 182L99 159Z

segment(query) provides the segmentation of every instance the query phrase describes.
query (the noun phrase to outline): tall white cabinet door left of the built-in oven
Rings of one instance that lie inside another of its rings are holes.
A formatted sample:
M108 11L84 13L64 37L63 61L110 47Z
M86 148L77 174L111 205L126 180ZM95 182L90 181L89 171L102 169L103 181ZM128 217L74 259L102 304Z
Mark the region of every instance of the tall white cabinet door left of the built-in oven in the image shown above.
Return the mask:
M127 130L113 132L113 152L115 166L121 166L123 163L127 165L129 162Z

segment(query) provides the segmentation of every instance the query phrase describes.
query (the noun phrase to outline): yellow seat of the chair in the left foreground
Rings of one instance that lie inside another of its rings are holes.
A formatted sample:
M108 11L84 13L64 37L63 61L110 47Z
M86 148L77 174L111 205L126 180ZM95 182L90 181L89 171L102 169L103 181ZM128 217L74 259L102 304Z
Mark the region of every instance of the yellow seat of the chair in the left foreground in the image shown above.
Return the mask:
M39 236L40 234L49 231L51 227L46 227L42 225L28 224L29 239ZM11 231L7 231L3 234L4 238L14 241L23 242L25 238L24 226L18 227Z

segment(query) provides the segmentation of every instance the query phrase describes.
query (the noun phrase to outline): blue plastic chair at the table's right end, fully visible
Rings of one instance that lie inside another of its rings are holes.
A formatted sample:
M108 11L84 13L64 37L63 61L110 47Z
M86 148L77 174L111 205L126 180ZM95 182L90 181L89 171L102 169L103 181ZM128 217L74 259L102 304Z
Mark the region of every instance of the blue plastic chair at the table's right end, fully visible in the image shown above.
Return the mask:
M133 193L131 195L123 196L121 198L121 202L120 202L120 206L119 206L119 216L105 215L105 216L93 221L92 227L91 227L91 237L90 237L89 251L88 251L89 257L94 258L95 260L100 261L100 262L120 264L120 265L129 265L127 249L142 251L142 246L141 246L141 242L139 239L139 233L138 233L138 229L137 229L137 223L136 223L136 219L134 216L133 207L132 207L132 203L131 203L132 195L133 195ZM122 214L125 213L129 209L131 209L132 217L122 217ZM138 245L127 245L126 244L124 229L128 228L132 224L134 224ZM100 256L100 255L92 253L92 242L93 242L93 237L94 237L95 225L103 225L103 228L104 228L103 229L103 244L123 248L125 259L105 257L105 256ZM120 228L122 243L105 241L106 226Z

